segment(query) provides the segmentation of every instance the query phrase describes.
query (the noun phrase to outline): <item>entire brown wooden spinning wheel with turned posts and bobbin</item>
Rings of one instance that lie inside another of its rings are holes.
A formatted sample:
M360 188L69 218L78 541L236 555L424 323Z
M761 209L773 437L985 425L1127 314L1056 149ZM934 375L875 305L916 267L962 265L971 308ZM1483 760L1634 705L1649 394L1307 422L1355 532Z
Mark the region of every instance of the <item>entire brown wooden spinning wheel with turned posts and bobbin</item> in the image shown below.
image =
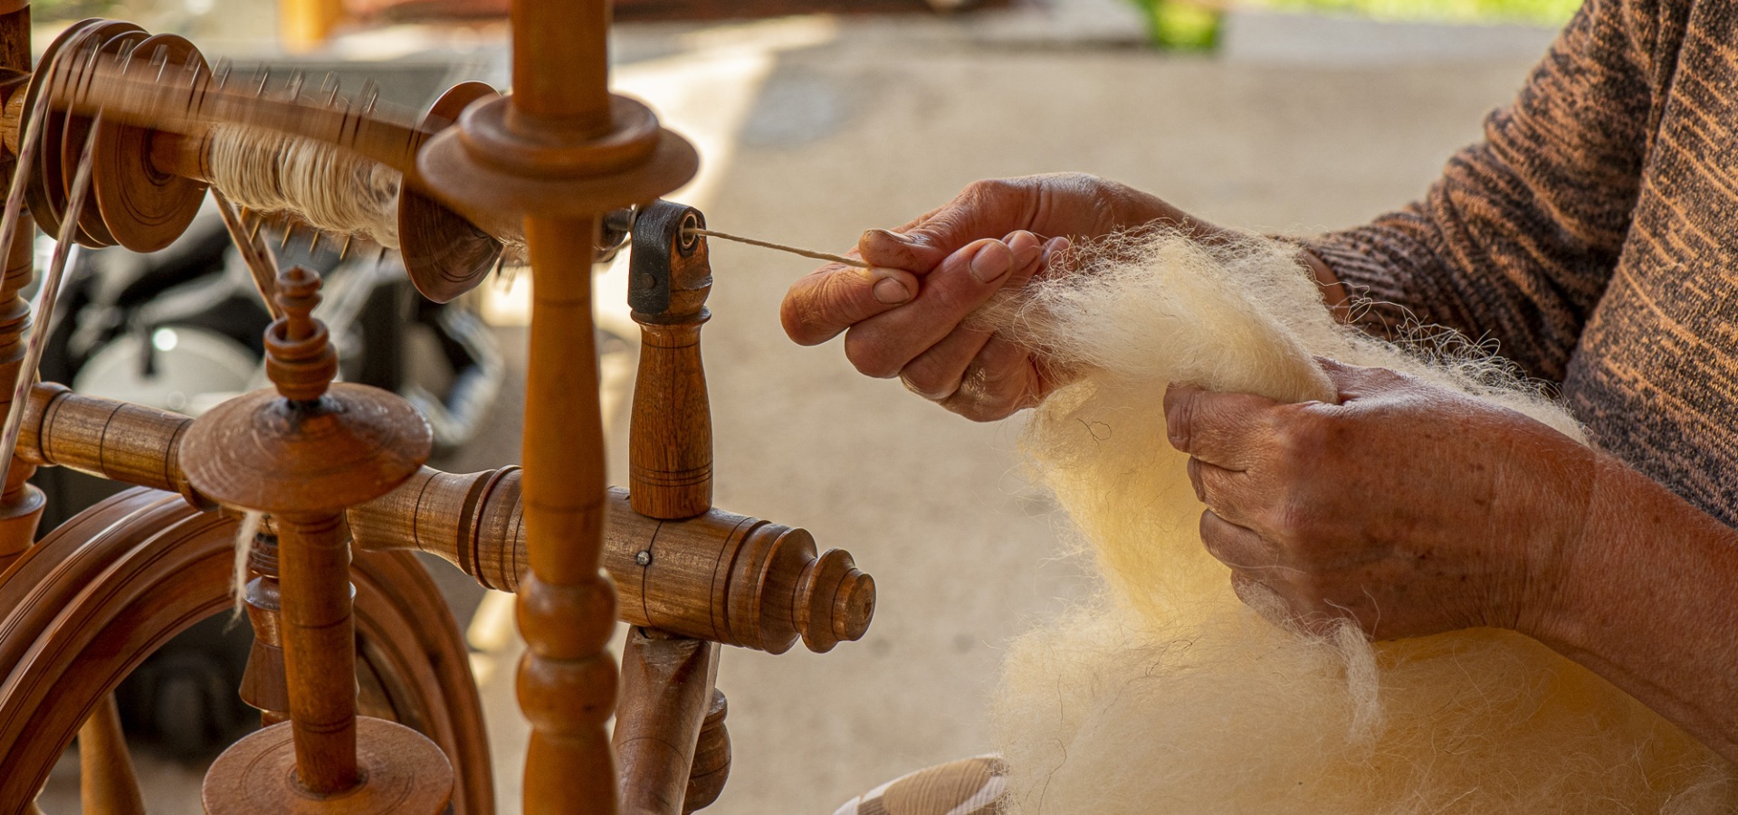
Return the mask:
M704 221L657 202L697 156L650 109L608 94L608 5L516 2L514 92L466 83L422 116L367 89L231 78L193 43L116 21L70 28L30 71L28 17L0 2L16 193L0 379L35 377L19 295L33 219L63 243L52 292L68 242L158 248L212 186L278 320L266 334L273 388L198 421L56 384L7 389L17 443L0 494L0 812L35 808L75 735L85 810L143 812L109 692L224 610L243 514L255 641L238 692L264 726L212 765L207 812L492 812L457 629L403 549L518 594L527 812L709 805L730 765L720 645L857 639L874 580L799 528L711 506ZM334 384L311 316L320 280L278 273L257 240L264 212L229 198L346 242L396 243L436 301L478 285L502 252L523 254L535 282L523 469L429 469L428 427L403 401ZM603 478L591 264L615 243L600 242L605 215L622 231L626 207L638 212L629 297L645 349L622 490ZM43 466L136 488L33 546L43 497L24 480ZM607 650L617 619L634 626L620 673Z

